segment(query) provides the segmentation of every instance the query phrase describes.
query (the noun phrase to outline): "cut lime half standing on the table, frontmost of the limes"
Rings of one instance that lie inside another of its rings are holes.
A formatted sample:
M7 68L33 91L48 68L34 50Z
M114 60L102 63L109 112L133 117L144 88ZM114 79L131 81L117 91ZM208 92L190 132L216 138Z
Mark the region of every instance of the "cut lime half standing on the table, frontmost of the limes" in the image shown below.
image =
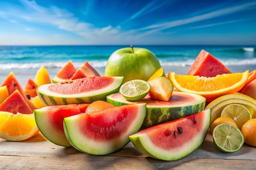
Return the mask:
M236 152L244 142L243 133L234 125L219 124L213 129L213 143L222 152Z

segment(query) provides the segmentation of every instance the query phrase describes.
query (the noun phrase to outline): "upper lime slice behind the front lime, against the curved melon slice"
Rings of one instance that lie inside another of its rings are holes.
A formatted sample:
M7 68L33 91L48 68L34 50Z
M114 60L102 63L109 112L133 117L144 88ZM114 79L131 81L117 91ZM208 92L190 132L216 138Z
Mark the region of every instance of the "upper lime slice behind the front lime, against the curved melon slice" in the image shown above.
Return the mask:
M249 119L252 119L252 114L250 110L243 104L229 104L223 108L220 116L227 116L232 118L239 129L247 122Z

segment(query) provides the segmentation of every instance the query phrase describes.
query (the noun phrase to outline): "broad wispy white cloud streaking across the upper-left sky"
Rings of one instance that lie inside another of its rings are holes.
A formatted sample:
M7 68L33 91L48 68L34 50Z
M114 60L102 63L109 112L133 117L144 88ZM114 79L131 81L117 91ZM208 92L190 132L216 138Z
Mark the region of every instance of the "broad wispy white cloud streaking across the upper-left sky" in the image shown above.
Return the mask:
M121 31L120 27L114 28L111 25L97 28L91 23L80 21L79 18L74 17L73 13L56 6L47 8L29 0L21 0L21 3L24 6L23 9L9 9L8 12L2 11L0 17L3 18L4 16L7 20L9 18L20 18L31 23L51 24L58 27L58 29L81 35L88 41L95 41L99 37L101 37L101 40L106 39L109 41L111 40L110 37Z

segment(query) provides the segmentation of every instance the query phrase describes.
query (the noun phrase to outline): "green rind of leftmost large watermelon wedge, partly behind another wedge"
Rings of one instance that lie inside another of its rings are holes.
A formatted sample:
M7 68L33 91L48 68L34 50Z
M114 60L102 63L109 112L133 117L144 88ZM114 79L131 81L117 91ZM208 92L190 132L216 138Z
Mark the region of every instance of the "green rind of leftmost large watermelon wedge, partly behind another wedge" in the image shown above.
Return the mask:
M59 146L70 147L71 144L69 143L69 141L67 141L66 136L56 131L55 127L53 127L52 124L47 123L49 122L49 117L45 116L45 112L47 111L47 109L48 107L43 107L34 110L36 125L39 131L45 138L47 138L52 143Z

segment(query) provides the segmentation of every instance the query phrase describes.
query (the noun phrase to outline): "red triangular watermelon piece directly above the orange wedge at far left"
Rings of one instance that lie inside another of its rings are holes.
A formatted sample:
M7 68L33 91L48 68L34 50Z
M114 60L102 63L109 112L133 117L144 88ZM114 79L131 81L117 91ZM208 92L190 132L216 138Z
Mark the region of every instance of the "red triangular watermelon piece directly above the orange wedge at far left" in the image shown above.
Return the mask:
M29 107L27 102L24 100L20 91L16 90L7 99L0 104L0 111L11 112L13 114L23 113L31 114L33 110Z

